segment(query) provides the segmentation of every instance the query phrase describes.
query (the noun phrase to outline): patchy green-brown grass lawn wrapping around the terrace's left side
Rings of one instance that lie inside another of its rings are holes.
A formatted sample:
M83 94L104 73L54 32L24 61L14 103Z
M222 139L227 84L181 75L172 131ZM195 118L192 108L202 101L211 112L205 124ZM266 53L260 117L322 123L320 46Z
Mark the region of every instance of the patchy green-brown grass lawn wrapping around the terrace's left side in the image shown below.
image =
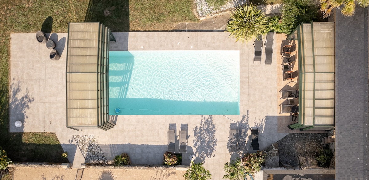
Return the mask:
M100 21L113 32L169 31L180 22L199 22L192 0L1 0L0 146L13 161L66 161L55 134L8 131L10 34L35 33L46 18L57 33L67 32L68 22Z

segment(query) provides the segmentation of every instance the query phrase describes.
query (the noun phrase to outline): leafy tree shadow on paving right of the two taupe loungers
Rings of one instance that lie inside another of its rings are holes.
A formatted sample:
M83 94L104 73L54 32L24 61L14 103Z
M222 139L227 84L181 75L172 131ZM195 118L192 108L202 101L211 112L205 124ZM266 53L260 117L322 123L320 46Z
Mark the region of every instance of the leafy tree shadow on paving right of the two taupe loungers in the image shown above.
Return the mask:
M217 146L217 138L215 138L215 125L213 124L213 116L209 115L207 118L201 115L200 127L196 126L193 129L194 140L193 147L194 154L205 162L205 158L211 158L215 155L215 147Z

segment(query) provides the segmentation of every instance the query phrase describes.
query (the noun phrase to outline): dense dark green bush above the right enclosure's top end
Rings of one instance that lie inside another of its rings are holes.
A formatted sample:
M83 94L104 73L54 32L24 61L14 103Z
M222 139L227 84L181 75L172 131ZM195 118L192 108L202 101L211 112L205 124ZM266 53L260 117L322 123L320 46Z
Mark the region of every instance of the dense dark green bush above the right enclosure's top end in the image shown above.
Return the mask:
M318 10L313 0L283 0L281 31L290 34L297 25L316 21Z

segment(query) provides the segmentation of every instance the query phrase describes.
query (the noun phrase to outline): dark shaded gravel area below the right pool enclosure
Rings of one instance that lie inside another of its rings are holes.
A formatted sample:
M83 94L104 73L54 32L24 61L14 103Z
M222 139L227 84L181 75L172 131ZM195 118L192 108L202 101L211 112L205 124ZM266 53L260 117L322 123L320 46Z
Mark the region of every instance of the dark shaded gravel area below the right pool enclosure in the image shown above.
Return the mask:
M323 148L322 138L327 136L327 133L290 133L277 142L279 160L300 169L319 168L315 154Z

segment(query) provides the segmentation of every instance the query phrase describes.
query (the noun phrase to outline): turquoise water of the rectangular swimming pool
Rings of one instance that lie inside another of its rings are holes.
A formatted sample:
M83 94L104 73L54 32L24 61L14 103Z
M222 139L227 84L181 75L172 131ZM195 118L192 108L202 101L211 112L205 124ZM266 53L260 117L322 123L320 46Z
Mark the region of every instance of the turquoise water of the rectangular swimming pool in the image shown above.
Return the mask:
M239 115L239 51L110 51L109 114Z

